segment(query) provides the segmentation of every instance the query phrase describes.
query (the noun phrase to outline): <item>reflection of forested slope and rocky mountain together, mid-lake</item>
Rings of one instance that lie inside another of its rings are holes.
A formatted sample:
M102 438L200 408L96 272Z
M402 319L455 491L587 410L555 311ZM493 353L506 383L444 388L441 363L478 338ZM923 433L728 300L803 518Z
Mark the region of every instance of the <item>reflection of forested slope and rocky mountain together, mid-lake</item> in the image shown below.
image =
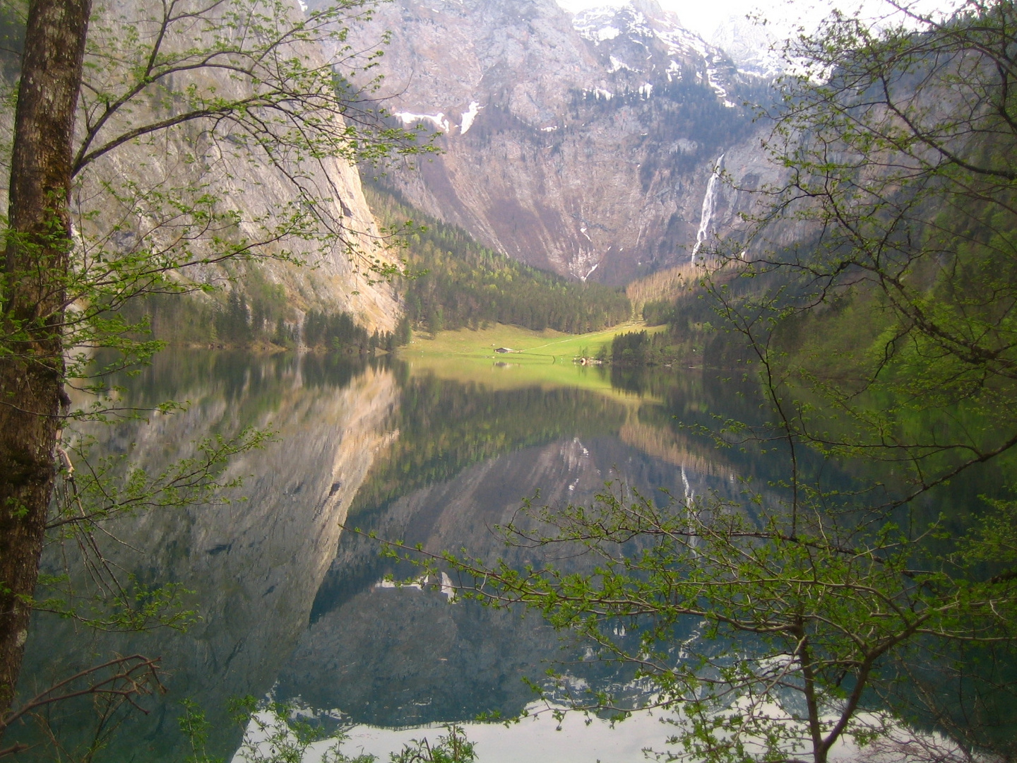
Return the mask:
M520 513L527 498L589 505L607 482L660 505L670 496L737 497L739 464L673 421L667 408L674 401L661 402L664 393L678 400L703 395L702 378L644 375L639 384L621 402L582 389L407 379L400 436L379 453L350 512L361 533L341 538L278 696L340 708L357 723L403 726L514 716L534 699L524 679L539 683L548 667L582 686L633 691L630 667L591 660L587 645L570 642L539 617L452 601L455 580L441 581L443 589L384 585L385 575L410 571L379 559L369 535L522 566L544 560L532 548L505 547L495 528L533 527L535 520ZM697 406L708 420L709 406L690 403ZM572 571L596 564L567 554L553 562Z

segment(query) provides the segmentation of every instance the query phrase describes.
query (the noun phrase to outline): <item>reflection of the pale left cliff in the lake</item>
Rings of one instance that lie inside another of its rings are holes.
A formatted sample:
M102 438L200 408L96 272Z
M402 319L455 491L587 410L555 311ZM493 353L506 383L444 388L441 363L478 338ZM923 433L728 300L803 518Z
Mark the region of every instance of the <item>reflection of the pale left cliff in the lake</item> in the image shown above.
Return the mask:
M306 627L340 524L375 452L392 437L398 385L381 364L211 352L164 353L139 377L119 380L129 385L124 405L175 399L189 406L147 422L89 427L98 441L94 452L127 453L133 464L156 470L208 434L254 425L273 428L277 438L230 464L224 476L244 478L233 496L243 500L138 514L98 535L123 571L194 592L190 603L200 620L186 634L95 633L41 615L29 636L21 693L115 653L161 656L167 698L146 717L133 714L106 754L182 759L176 718L185 697L207 710L217 729L215 752L227 754L239 732L226 720L226 700L263 696ZM63 559L74 553L73 543L51 544L47 569L61 572ZM83 707L54 707L49 721L72 748L87 744L94 730ZM52 752L42 747L39 755L48 760Z

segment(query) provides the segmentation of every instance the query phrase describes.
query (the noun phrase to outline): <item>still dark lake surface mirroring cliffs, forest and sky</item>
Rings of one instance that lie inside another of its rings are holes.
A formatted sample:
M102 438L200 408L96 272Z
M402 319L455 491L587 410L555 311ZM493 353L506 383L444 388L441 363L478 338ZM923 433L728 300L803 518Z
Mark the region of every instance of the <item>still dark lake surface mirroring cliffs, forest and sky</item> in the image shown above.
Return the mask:
M177 583L197 615L185 632L96 632L40 614L31 634L21 692L48 686L113 654L160 656L168 692L142 701L147 714L110 718L97 760L169 761L190 754L178 729L181 701L197 703L215 729L210 753L227 760L240 743L231 698L294 700L352 724L346 750L382 760L410 738L481 713L511 717L534 701L523 679L547 667L575 687L638 694L629 672L588 659L538 618L456 600L458 581L396 588L401 572L377 543L342 524L425 549L467 548L515 563L493 531L522 502L589 504L605 481L658 502L716 493L737 497L779 476L779 458L717 450L695 433L715 415L752 420L752 390L699 370L614 374L575 366L553 384L492 361L463 373L399 360L350 363L313 355L167 351L139 375L120 379L125 408L183 400L185 410L146 421L89 425L93 453L149 473L194 453L202 437L246 426L275 439L246 453L224 478L243 478L230 503L143 511L97 535L123 572L147 585ZM118 467L113 467L114 471ZM772 494L772 500L779 495ZM525 521L525 520L524 520ZM46 572L89 588L73 541L47 549ZM559 560L582 569L588 560ZM692 627L692 626L691 626ZM68 748L96 739L94 708L63 703L47 722ZM643 760L668 729L639 716L615 729L579 720L471 725L480 760ZM37 759L53 759L40 747Z

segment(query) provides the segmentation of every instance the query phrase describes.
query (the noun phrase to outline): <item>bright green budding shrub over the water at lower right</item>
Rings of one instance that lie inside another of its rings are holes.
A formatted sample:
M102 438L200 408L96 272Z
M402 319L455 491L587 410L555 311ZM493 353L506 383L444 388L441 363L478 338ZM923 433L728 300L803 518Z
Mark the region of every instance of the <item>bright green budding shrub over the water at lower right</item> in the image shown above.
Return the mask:
M622 717L637 707L673 711L669 760L804 753L821 761L845 739L864 745L899 735L909 709L902 682L915 665L951 644L1005 643L1017 618L1013 576L977 575L977 553L923 552L937 526L922 537L893 523L859 527L857 515L830 514L820 496L807 511L768 506L754 519L717 500L660 507L623 485L607 487L591 507L531 507L544 532L502 528L531 556L592 554L592 573L537 562L491 567L451 553L425 564L473 580L466 597L538 609L595 644L601 658L637 665L652 688L642 704L591 692L572 693L573 706ZM964 547L983 548L985 529L962 539ZM418 549L390 551L419 563Z

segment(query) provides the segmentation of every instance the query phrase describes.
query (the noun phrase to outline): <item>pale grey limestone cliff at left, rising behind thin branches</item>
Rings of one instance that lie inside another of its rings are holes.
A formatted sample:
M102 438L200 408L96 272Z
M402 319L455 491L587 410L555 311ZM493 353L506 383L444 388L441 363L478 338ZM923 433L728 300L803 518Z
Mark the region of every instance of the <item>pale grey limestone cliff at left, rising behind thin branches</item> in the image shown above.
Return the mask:
M258 277L282 286L292 320L308 309L341 309L369 331L392 331L400 307L393 288L367 273L386 255L359 173L341 151L317 151L321 143L306 130L318 120L322 132L341 135L349 125L331 104L327 54L313 40L287 41L304 20L296 2L265 3L263 18L245 13L197 0L172 8L152 0L96 3L72 146L82 157L96 154L72 189L79 267L102 281L104 261L144 260L156 270L189 261L175 277L191 286L229 289ZM274 55L292 56L300 67L251 63L256 56L247 53L277 38L284 42ZM156 74L145 69L149 58L162 62ZM301 80L300 72L325 73ZM273 75L279 82L265 81ZM16 71L0 71L0 84L13 89ZM271 106L218 111L223 103L256 104L255 95L274 87ZM281 99L280 91L296 95ZM108 110L120 101L122 108ZM213 116L174 121L202 110ZM310 119L292 118L299 113ZM0 113L2 142L9 144L12 123L10 109ZM8 172L9 156L0 152L0 174ZM4 210L7 187L0 183ZM222 261L231 247L251 258Z

